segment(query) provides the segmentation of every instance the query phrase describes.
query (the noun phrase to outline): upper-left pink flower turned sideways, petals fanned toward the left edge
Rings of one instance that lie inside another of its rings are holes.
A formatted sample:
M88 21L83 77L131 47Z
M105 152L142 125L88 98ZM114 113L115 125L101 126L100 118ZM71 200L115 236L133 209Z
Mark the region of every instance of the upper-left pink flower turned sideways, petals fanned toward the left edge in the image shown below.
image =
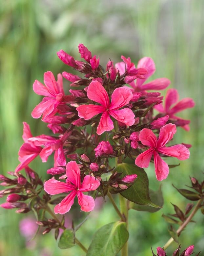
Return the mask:
M51 71L44 73L45 86L38 80L35 80L33 84L33 90L38 95L44 95L46 97L38 104L32 111L33 118L39 118L43 114L43 120L47 119L51 115L57 112L57 107L63 102L63 96L65 96L63 90L62 75L57 75L57 81L55 81L54 75Z

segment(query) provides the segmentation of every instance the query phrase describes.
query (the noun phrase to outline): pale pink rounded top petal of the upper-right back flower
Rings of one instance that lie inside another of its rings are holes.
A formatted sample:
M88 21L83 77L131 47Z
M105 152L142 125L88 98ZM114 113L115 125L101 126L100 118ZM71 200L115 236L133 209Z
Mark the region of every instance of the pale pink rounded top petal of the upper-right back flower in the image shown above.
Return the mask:
M137 64L137 68L146 68L148 71L148 74L143 75L145 77L145 79L139 79L137 78L136 80L136 86L141 88L142 84L144 84L144 82L151 76L153 75L153 73L155 72L156 68L155 68L155 64L153 59L151 59L150 57L144 57L142 59L139 60L138 64Z

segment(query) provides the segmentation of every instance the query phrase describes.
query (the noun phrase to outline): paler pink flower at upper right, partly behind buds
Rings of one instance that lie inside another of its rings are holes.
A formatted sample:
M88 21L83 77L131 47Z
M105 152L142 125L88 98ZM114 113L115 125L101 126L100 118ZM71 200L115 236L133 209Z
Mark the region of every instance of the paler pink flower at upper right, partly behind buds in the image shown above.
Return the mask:
M147 84L144 82L155 72L155 64L153 59L149 57L144 57L139 60L137 64L137 69L145 68L147 69L148 73L143 75L143 79L137 78L136 83L133 81L130 83L130 86L133 88L132 91L134 92L142 92L142 94L146 94L146 90L164 90L167 88L171 81L167 78L157 78ZM144 85L143 85L144 84Z

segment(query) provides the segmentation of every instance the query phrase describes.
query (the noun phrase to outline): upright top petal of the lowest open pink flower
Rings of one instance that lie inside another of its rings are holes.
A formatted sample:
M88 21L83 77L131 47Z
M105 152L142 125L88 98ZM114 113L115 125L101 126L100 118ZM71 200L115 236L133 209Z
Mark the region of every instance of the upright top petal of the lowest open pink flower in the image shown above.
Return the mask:
M70 161L66 166L66 175L68 180L77 188L81 186L80 169L75 161Z

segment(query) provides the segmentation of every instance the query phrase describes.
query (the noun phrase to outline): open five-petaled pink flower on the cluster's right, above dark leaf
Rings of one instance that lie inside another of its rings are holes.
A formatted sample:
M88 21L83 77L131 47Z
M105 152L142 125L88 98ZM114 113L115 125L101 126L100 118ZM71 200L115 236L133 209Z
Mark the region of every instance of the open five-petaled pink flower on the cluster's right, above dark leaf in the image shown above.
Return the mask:
M142 129L139 134L139 140L143 145L150 147L148 150L141 153L135 159L135 165L141 168L147 168L149 166L152 155L154 156L154 166L157 180L166 179L169 174L169 166L161 159L158 153L176 157L179 160L185 160L189 158L189 150L182 144L166 147L176 132L175 124L169 123L163 126L159 132L159 139L150 129Z

